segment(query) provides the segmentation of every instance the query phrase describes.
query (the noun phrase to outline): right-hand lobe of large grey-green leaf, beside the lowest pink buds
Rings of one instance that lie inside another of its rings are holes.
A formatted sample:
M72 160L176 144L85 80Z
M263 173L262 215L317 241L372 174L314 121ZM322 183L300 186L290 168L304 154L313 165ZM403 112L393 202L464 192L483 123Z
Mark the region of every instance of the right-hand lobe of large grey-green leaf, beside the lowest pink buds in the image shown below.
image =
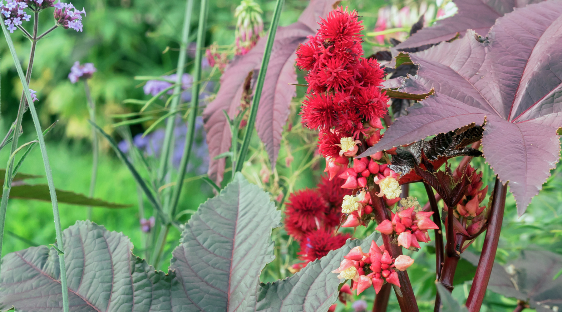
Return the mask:
M343 256L353 247L361 246L362 250L369 250L371 242L379 236L378 232L373 232L365 240L348 240L345 246L312 261L293 276L273 283L262 283L256 311L328 311L337 300L339 284L345 281L332 271L339 267Z

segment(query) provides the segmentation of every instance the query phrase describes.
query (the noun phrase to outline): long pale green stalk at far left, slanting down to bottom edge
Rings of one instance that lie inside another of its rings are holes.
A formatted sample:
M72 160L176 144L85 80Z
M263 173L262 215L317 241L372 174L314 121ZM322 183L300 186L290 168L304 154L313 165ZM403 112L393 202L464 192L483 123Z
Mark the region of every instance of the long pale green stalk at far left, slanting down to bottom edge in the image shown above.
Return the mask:
M37 25L38 13L35 12L35 24ZM45 176L47 177L47 184L49 185L49 194L51 195L51 204L53 206L53 219L55 219L55 231L57 237L57 248L59 250L64 250L64 243L62 241L62 228L61 228L61 218L60 214L58 213L58 203L57 203L57 194L55 191L55 183L53 182L53 175L51 172L51 165L49 165L49 157L47 155L47 147L45 146L45 140L43 139L43 131L41 131L41 125L39 124L39 117L37 116L37 110L35 109L35 105L33 104L33 100L31 100L31 93L29 91L29 85L24 76L24 71L21 69L21 64L19 59L17 58L16 49L13 47L12 38L10 37L10 33L6 29L6 25L0 23L2 26L2 31L4 33L4 37L6 37L6 42L8 44L8 48L10 48L10 53L12 54L13 62L16 65L17 74L20 76L21 84L24 87L24 94L25 99L28 101L29 104L29 111L31 112L31 117L33 118L33 125L35 126L35 132L37 132L37 138L39 140L39 148L41 150L41 156L43 158L43 165L45 167ZM34 38L37 38L37 26L34 26ZM34 40L37 43L37 39ZM34 48L34 47L33 47ZM34 51L33 51L34 52ZM28 72L31 72L30 68L32 67L32 63L29 64ZM21 122L20 122L21 123ZM16 127L16 131L14 131L14 136L16 136L17 132L19 131L19 127ZM17 141L14 137L13 141ZM12 163L13 164L13 163ZM2 198L3 200L4 198ZM7 199L7 196L6 196ZM3 222L2 222L3 224ZM68 295L68 288L66 286L66 265L65 265L65 255L64 253L58 254L58 260L60 263L61 269L61 287L62 287L62 308L64 312L69 311L69 295Z

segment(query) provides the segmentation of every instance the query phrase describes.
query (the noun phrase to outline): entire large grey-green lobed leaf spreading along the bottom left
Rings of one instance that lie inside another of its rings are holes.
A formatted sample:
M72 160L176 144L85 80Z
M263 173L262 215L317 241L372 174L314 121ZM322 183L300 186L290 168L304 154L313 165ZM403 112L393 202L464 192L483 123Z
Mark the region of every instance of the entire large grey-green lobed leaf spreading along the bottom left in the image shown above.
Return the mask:
M280 212L270 195L236 173L203 203L182 233L167 274L132 253L122 233L78 221L64 231L64 250L30 247L2 263L0 309L60 311L58 256L67 259L71 311L319 311L337 300L343 282L331 273L353 247L368 249L378 233L352 240L292 277L260 284L274 259L271 230Z

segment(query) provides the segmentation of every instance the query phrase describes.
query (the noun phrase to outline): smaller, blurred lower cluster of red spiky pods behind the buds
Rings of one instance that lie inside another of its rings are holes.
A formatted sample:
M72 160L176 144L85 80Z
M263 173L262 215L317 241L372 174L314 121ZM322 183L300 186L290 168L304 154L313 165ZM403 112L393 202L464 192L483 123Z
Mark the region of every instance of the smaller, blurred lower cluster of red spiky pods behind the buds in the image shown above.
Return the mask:
M322 258L351 238L350 235L334 233L342 219L339 210L343 196L351 194L350 190L341 188L342 182L322 177L315 189L300 190L289 195L285 209L285 230L300 242L298 255L305 261L294 266L294 269Z

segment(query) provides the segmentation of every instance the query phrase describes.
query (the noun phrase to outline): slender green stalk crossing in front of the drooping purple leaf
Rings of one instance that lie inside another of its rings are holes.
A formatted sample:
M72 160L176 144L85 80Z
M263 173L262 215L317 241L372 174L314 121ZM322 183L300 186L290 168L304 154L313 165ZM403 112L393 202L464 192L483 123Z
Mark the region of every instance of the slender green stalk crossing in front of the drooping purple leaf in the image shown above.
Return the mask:
M271 25L269 26L268 41L265 43L264 58L261 60L260 74L257 75L256 91L253 94L252 108L250 109L250 118L248 118L248 125L246 126L244 141L242 142L240 154L238 155L238 159L236 160L236 167L232 175L234 175L235 172L242 171L244 159L246 159L246 154L248 153L248 146L250 146L250 140L252 139L253 125L256 123L257 106L260 104L261 89L264 88L265 74L268 70L271 48L273 48L275 33L277 33L277 25L279 24L279 17L281 16L284 2L285 0L277 0L275 11L273 11L273 20L271 20Z

